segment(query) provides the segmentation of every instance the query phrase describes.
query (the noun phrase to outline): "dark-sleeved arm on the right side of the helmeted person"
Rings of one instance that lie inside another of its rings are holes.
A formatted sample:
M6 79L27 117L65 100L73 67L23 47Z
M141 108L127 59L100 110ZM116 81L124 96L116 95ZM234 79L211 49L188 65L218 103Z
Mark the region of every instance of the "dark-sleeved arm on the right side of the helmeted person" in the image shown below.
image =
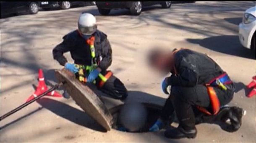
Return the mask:
M112 63L112 49L110 46L110 42L107 38L102 43L102 60L99 62L99 68L104 71L106 70Z

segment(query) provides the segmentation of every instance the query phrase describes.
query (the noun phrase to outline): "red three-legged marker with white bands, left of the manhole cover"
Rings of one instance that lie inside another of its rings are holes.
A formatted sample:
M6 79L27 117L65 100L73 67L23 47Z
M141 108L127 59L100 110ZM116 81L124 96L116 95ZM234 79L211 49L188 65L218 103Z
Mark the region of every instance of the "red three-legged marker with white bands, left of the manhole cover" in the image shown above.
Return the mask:
M30 100L34 99L37 97L39 94L42 94L43 92L46 92L48 90L47 85L44 82L44 73L42 69L39 69L38 71L38 85L36 91L26 100L26 102L29 102ZM47 96L53 96L53 97L62 97L62 94L52 91L47 94Z

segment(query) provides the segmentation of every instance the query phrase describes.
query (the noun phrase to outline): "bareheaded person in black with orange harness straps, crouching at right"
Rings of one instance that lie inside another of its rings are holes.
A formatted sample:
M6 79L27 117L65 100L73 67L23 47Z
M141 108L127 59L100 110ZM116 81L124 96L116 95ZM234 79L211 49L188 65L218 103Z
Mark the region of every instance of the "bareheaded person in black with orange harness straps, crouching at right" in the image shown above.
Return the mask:
M189 49L175 49L172 52L152 51L150 64L161 72L171 72L162 82L165 94L171 86L162 113L150 131L164 128L174 120L174 111L179 120L178 128L165 131L167 138L195 138L197 123L226 122L230 120L229 130L240 128L243 109L224 107L233 98L234 85L220 66L206 54Z

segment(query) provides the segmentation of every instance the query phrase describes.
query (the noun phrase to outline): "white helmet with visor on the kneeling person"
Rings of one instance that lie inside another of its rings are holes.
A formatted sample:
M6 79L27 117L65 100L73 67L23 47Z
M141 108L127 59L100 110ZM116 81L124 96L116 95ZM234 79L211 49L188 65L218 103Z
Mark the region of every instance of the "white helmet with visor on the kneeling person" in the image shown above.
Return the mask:
M84 35L91 35L97 30L96 18L91 13L82 13L78 19L78 29Z

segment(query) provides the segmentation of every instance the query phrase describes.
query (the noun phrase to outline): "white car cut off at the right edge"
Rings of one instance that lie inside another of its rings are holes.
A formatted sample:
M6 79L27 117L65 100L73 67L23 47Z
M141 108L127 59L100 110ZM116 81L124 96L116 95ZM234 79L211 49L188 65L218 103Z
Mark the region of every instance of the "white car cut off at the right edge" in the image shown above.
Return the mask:
M240 43L255 51L256 37L256 6L249 8L243 15L243 22L239 24L239 40Z

